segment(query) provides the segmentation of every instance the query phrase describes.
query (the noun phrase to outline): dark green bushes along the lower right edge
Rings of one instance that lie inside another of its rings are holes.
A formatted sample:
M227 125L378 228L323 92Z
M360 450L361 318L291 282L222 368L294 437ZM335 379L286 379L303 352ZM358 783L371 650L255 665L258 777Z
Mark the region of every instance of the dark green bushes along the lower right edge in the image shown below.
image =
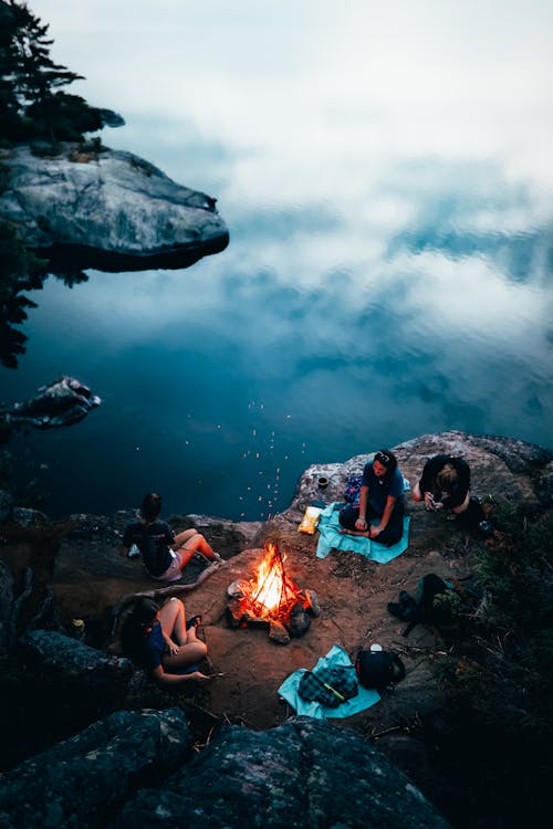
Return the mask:
M430 738L462 793L441 806L467 827L532 823L553 772L553 511L495 525L472 550L486 602L434 661L446 705Z

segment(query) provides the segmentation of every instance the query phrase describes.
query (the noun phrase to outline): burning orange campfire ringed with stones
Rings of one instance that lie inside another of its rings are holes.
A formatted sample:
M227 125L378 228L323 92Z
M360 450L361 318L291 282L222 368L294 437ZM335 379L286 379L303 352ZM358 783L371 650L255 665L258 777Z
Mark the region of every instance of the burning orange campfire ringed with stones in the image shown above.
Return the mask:
M313 590L302 590L284 569L279 547L269 543L249 581L234 581L228 592L227 616L232 628L269 626L269 638L282 644L299 637L311 625L320 608Z

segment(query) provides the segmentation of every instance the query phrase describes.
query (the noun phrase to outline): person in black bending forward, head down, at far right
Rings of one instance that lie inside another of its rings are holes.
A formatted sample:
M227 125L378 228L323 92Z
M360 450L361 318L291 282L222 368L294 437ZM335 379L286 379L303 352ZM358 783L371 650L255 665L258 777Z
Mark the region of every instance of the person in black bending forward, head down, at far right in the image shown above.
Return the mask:
M455 520L470 504L470 468L462 458L437 454L422 469L420 481L413 487L413 500L424 501L427 510L444 510Z

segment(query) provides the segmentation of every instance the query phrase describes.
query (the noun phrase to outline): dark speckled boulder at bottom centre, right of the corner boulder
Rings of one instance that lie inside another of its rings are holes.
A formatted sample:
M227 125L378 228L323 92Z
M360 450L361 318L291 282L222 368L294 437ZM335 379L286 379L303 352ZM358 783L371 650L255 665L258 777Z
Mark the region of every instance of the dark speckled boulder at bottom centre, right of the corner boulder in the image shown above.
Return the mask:
M221 730L164 790L129 800L131 827L447 829L449 823L376 748L307 717L255 734Z

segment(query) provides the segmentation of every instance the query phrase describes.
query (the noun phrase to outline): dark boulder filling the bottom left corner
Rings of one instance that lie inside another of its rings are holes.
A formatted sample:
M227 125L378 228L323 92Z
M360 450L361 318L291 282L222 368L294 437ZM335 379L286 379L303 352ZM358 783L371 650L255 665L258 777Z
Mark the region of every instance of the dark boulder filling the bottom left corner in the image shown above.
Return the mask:
M175 770L190 742L177 709L118 711L0 775L0 826L104 827L142 781Z

